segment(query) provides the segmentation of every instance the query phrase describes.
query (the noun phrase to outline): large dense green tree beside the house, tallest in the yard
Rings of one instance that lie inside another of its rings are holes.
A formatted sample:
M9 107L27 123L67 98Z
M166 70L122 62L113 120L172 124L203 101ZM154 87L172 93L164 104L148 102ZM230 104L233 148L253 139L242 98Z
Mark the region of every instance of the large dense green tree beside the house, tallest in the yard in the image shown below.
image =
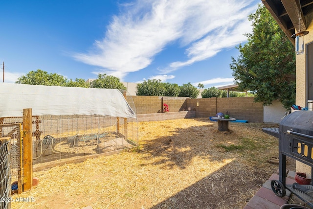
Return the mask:
M253 30L247 43L238 47L230 68L240 90L255 94L254 101L270 105L278 99L285 108L295 102L295 52L265 6L248 16Z

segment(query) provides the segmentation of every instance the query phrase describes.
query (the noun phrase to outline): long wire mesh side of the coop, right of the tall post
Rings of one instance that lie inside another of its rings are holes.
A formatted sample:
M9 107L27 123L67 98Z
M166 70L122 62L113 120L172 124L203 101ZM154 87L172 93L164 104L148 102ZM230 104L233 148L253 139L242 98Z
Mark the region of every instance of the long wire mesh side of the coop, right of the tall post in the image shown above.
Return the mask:
M135 120L135 119L134 119ZM33 117L33 164L67 161L138 144L133 119L112 116Z

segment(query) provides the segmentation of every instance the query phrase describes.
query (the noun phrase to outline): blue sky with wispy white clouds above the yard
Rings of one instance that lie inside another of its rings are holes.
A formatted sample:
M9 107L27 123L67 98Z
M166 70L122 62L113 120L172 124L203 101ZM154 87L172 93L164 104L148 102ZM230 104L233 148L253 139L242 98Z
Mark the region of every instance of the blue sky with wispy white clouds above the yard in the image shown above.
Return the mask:
M231 57L260 0L5 0L0 78L31 70L68 79L98 73L205 88L233 84Z

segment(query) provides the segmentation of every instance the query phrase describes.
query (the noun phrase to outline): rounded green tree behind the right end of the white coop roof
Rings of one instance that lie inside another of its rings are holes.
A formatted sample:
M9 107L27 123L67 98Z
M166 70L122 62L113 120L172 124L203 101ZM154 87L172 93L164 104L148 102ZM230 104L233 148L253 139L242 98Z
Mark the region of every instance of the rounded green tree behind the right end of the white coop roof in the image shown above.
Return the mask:
M107 74L98 74L98 78L90 83L90 88L126 90L120 79Z

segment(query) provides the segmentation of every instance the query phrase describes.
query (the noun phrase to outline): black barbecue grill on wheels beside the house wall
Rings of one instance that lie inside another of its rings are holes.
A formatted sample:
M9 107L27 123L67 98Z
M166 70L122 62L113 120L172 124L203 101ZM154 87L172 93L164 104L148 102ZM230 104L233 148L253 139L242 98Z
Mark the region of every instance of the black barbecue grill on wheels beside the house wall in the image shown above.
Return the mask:
M279 180L271 181L273 192L283 197L286 189L313 207L311 185L286 185L286 156L313 167L313 111L295 111L284 117L279 128L263 128L263 132L279 139ZM313 174L313 169L312 169Z

